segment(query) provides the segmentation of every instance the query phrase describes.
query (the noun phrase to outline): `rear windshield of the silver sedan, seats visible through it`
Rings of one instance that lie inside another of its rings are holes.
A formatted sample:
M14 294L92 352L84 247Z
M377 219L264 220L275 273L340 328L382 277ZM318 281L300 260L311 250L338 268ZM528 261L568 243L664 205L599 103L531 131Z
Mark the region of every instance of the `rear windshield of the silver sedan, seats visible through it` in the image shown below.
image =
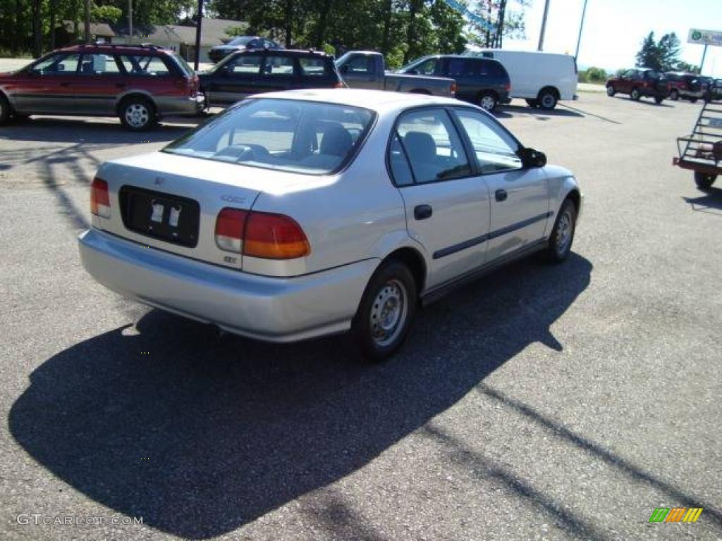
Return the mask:
M246 100L163 151L321 175L347 162L373 118L371 111L349 105Z

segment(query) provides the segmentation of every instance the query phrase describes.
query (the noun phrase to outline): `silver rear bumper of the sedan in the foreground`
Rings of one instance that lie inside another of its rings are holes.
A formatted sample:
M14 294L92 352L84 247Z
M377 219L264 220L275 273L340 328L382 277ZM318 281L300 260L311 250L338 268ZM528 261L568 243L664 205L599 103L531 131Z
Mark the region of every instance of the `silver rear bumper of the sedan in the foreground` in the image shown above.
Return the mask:
M80 258L108 289L231 333L292 342L351 326L378 260L293 278L243 273L89 229Z

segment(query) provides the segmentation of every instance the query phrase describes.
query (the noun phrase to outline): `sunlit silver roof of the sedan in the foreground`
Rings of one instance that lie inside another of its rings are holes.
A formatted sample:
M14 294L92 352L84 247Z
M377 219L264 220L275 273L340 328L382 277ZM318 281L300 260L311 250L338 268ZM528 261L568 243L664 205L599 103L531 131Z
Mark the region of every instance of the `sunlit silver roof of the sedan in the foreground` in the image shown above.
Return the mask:
M450 97L429 96L426 94L412 94L410 92L388 92L386 90L367 90L350 88L322 88L298 89L285 92L266 92L255 94L252 98L300 100L307 102L333 103L363 107L377 113L388 113L415 107L419 105L455 105L468 106L469 104L454 100Z

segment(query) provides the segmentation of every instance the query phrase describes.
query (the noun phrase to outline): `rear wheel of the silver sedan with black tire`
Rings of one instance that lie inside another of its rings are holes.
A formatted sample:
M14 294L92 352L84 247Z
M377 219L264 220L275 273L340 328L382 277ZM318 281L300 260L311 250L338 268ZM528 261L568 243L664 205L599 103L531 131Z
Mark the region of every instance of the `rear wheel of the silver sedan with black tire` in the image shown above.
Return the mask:
M368 282L351 325L365 359L378 362L396 353L409 333L416 304L417 284L409 268L397 260L382 263Z

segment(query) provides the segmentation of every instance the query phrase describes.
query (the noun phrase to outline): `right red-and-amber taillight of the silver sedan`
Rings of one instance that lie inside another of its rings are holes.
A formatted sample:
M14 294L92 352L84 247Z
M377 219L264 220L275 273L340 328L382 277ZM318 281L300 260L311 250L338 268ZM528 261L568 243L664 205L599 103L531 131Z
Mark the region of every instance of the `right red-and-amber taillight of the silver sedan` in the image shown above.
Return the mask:
M216 244L251 258L295 259L310 254L303 229L289 216L224 208L216 221Z

